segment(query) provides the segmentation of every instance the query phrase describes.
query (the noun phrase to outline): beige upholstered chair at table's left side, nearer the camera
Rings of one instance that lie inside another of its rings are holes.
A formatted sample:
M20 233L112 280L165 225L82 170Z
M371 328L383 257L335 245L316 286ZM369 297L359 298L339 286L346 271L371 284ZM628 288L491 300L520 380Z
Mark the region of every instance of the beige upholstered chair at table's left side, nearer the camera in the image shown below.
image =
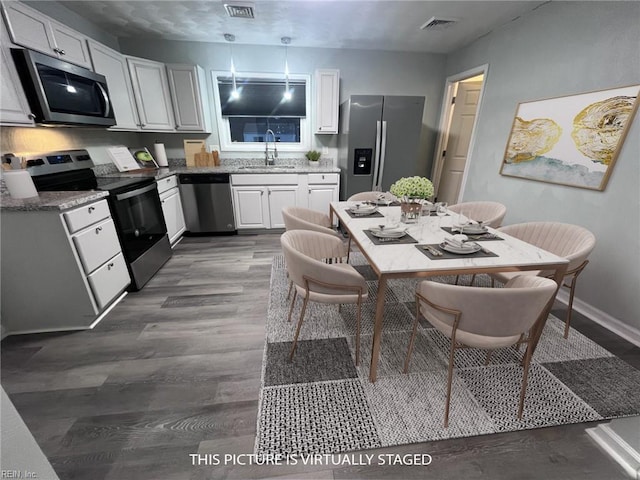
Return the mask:
M298 344L300 328L308 302L341 305L356 304L356 365L360 362L360 319L362 302L367 299L367 282L348 263L327 263L346 254L344 243L334 235L311 230L289 230L280 237L289 278L295 287L289 321L296 297L303 298L300 318L291 347L289 359Z

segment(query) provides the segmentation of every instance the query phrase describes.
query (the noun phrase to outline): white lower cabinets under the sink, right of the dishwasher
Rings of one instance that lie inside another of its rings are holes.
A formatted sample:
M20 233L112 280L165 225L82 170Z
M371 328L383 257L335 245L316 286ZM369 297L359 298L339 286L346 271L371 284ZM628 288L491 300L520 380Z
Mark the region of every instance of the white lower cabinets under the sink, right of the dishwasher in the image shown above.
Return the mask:
M236 228L284 228L288 206L329 213L338 200L338 174L242 174L231 176Z

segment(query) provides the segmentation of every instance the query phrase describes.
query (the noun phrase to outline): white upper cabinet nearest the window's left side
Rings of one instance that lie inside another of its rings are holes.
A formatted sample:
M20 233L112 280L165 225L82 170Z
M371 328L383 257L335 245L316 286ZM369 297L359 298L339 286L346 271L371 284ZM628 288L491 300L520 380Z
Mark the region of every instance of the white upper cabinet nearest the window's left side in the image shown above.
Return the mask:
M211 133L211 111L202 67L168 64L167 76L176 130Z

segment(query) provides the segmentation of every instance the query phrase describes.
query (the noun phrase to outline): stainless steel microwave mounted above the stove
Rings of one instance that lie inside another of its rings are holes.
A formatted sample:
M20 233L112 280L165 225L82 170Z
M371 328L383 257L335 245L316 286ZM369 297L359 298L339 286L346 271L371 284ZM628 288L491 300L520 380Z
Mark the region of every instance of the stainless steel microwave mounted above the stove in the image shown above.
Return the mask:
M24 48L11 54L36 123L115 125L103 75Z

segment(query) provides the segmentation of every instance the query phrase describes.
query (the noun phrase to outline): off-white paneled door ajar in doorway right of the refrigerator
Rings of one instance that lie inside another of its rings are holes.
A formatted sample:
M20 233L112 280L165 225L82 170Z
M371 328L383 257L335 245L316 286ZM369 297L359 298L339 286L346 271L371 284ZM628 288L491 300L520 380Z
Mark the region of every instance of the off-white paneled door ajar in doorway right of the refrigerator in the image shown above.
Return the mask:
M481 91L482 81L458 83L438 187L439 201L458 201Z

